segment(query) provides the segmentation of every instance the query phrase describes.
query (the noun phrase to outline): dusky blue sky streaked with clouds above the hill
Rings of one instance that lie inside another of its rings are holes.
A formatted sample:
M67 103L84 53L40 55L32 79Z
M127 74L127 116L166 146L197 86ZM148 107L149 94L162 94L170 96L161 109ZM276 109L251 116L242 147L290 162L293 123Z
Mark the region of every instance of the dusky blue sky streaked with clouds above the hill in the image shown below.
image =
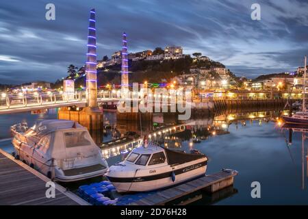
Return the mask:
M55 21L45 5L55 4ZM251 5L261 5L261 21ZM14 0L0 3L0 83L55 81L86 60L88 16L97 10L98 57L181 45L238 76L294 70L308 53L305 0Z

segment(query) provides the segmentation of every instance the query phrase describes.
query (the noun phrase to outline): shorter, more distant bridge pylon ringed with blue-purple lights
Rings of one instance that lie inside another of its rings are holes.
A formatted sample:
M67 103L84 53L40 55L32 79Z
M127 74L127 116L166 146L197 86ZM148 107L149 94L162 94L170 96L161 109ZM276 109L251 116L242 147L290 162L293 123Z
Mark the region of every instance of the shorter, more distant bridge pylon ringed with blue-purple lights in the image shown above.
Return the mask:
M129 92L127 39L126 39L125 32L123 33L123 40L122 40L121 92L122 92L122 96L126 96Z

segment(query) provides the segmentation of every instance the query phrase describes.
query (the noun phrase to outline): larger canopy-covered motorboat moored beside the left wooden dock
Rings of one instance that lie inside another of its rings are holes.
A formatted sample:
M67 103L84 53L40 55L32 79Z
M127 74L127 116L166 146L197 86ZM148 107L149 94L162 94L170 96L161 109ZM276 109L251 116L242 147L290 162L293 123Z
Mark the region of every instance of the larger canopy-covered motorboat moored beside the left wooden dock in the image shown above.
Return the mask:
M86 127L70 120L42 120L26 129L14 125L16 158L55 181L103 176L107 162ZM23 130L23 131L21 131Z

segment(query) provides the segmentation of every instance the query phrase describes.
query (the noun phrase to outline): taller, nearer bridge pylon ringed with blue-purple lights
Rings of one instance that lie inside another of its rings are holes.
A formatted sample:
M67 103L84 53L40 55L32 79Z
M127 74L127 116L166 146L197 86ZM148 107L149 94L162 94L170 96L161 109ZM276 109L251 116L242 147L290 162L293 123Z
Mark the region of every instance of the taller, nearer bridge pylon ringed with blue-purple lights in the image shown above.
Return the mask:
M88 107L97 107L97 30L95 29L94 9L90 11L88 33L88 53L86 62L86 99Z

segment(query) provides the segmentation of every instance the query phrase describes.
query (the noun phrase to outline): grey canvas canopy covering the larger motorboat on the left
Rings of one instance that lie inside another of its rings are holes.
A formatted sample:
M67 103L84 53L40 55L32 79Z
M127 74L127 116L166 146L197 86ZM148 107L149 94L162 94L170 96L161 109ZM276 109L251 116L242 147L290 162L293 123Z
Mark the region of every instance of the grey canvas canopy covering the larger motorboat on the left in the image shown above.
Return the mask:
M71 120L42 120L25 133L27 143L38 153L51 159L92 157L101 150L92 140L86 127Z

